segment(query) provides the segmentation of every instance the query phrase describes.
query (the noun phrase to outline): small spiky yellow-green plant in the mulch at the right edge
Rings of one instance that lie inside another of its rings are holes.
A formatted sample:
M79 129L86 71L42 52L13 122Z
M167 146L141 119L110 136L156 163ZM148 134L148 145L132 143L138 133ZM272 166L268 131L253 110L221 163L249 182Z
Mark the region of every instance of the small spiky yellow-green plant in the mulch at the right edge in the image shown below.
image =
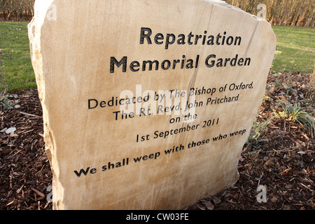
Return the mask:
M283 111L279 113L274 110L273 114L275 118L284 118L286 120L300 123L300 125L305 125L307 130L309 130L311 137L314 136L314 118L312 118L306 111L303 111L300 104L291 105L288 102L282 102L281 107Z

